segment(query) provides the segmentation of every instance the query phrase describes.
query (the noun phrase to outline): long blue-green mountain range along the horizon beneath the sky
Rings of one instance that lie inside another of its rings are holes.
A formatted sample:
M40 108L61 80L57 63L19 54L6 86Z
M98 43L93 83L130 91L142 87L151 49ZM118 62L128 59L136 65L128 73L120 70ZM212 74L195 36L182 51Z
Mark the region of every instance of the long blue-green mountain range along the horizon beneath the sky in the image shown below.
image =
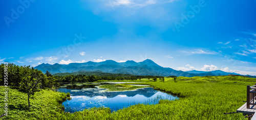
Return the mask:
M194 76L219 76L237 73L227 73L221 70L216 71L177 71L172 68L164 68L157 65L151 59L146 59L143 62L126 61L123 63L118 63L113 60L106 60L104 62L87 62L87 63L70 63L68 65L62 64L40 64L35 67L42 72L49 71L52 74L56 73L73 73L79 71L95 72L100 71L104 73L113 74L131 74L131 75L152 75L152 76L184 76L184 77L194 77Z

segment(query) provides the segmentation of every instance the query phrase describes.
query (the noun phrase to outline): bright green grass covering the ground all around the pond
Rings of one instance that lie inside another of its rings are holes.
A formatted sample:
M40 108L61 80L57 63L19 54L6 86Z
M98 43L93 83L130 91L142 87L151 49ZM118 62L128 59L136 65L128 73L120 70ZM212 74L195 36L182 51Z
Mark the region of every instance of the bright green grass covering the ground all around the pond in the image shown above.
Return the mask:
M147 81L147 80L141 80ZM165 78L148 84L155 89L172 93L179 100L161 100L156 105L133 105L111 113L109 108L84 109L75 113L64 113L57 99L60 93L41 91L31 99L28 108L26 94L15 89L10 91L9 119L247 119L234 112L246 100L246 85L256 83L255 78L237 76L206 76ZM131 84L131 83L129 83ZM3 88L0 87L0 103L3 103ZM3 104L0 105L3 111ZM4 118L8 118L4 116Z

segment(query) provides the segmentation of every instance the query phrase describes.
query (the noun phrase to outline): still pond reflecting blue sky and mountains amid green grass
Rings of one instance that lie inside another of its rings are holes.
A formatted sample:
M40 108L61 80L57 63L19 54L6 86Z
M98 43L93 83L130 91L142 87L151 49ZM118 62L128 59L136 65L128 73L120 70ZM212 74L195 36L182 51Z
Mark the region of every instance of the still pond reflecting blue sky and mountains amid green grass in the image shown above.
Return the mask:
M58 90L63 93L70 93L71 97L71 100L62 103L65 111L72 113L92 107L109 107L112 111L116 111L135 104L158 104L161 99L178 99L176 96L157 91L150 86L133 91L108 92L106 89L98 88L102 84L115 83L102 82L89 85L62 84Z

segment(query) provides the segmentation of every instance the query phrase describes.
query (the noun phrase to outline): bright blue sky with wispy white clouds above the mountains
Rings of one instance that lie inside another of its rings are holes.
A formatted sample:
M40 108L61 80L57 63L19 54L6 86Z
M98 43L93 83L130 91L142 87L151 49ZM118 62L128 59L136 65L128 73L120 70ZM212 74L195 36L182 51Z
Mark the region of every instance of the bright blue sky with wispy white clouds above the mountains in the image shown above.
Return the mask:
M175 70L256 75L256 1L0 2L0 63L152 59Z

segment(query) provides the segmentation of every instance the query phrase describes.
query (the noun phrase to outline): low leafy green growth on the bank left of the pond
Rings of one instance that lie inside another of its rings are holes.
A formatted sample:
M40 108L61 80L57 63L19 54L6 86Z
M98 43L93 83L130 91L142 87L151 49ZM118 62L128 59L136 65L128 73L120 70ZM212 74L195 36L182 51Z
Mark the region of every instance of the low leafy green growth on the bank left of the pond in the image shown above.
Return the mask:
M0 113L4 114L4 88L0 86ZM66 100L66 94L57 93L50 90L37 92L30 98L28 107L28 96L19 92L17 89L9 88L8 91L8 116L2 119L48 119L63 116L60 103Z

